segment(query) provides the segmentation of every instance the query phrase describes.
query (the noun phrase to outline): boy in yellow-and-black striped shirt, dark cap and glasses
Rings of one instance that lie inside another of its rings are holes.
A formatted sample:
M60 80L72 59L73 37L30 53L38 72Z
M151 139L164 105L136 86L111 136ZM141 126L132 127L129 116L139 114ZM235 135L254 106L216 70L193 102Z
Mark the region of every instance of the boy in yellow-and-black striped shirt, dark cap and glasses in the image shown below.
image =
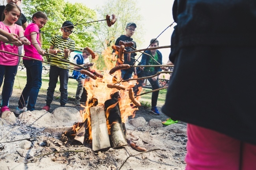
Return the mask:
M50 41L50 54L57 55L62 59L66 59L69 61L70 52L75 49L75 41L69 38L69 35L73 31L73 23L70 21L65 21L62 24L61 32L62 35L56 35L53 37L52 41ZM43 110L49 111L50 104L53 100L54 91L56 88L56 84L59 78L59 91L61 92L60 96L60 106L65 107L65 104L68 100L68 92L67 92L67 85L69 80L69 63L65 61L61 61L56 57L52 57L50 62L53 65L57 66L50 66L50 73L49 73L49 86L47 89L47 97L46 97L46 105L42 108Z

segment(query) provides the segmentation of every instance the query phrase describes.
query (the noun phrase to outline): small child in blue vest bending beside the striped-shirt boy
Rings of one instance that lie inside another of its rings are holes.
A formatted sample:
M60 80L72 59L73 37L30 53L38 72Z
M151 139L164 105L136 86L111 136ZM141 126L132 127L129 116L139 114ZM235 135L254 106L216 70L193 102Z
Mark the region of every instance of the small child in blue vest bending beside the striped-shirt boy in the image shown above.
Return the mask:
M90 55L91 54L86 50L86 48L83 48L82 54L76 54L74 56L74 63L82 67L91 67L93 66L93 63L90 63L90 59L89 59ZM81 70L82 68L74 65L74 69ZM80 105L80 100L83 93L85 95L83 96L85 98L85 101L81 101L81 102L85 103L87 100L87 91L86 89L84 89L84 83L85 81L89 81L90 77L85 74L81 74L79 71L76 71L76 70L74 70L72 74L73 78L76 79L76 81L78 82L77 89L76 89L76 100L74 104Z

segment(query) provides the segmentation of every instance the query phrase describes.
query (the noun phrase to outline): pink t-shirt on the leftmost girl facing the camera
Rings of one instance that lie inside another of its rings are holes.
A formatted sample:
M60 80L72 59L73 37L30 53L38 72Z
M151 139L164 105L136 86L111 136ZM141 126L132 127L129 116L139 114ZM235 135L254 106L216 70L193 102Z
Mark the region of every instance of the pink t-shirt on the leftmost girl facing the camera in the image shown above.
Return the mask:
M19 35L19 32L24 32L23 28L17 24L6 26L3 22L0 22L0 28L8 33L16 33L17 35ZM2 43L3 42L0 41L0 50L18 54L18 46L8 44L8 42ZM18 59L19 57L17 55L0 52L0 65L15 66L18 65Z

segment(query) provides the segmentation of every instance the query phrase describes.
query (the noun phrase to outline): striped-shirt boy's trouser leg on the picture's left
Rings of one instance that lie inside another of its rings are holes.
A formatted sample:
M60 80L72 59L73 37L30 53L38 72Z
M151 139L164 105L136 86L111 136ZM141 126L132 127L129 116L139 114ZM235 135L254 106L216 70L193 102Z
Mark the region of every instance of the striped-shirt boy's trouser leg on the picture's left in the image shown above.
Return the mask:
M49 83L48 83L48 89L47 89L47 97L46 97L46 105L50 107L50 104L53 100L54 91L56 88L56 84L58 83L58 77L59 77L59 69L56 66L50 66L50 72L49 72Z

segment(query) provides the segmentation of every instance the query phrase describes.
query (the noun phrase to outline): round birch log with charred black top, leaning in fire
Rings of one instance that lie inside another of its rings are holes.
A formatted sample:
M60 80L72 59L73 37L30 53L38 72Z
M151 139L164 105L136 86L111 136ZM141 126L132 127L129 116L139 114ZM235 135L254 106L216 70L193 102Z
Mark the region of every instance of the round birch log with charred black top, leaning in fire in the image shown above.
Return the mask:
M106 100L104 103L106 108L106 117L109 128L109 139L112 148L120 148L126 146L127 142L124 136L119 103L116 98Z

